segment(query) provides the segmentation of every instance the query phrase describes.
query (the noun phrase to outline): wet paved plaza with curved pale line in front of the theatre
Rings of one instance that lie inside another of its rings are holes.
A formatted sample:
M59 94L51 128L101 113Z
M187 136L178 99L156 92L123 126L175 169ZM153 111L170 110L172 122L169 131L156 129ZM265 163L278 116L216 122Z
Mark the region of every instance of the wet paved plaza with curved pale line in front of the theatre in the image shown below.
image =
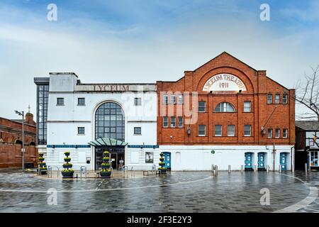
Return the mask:
M0 171L1 212L318 212L319 173L170 172L130 179L50 179ZM269 189L270 204L260 203ZM57 205L47 204L48 189Z

